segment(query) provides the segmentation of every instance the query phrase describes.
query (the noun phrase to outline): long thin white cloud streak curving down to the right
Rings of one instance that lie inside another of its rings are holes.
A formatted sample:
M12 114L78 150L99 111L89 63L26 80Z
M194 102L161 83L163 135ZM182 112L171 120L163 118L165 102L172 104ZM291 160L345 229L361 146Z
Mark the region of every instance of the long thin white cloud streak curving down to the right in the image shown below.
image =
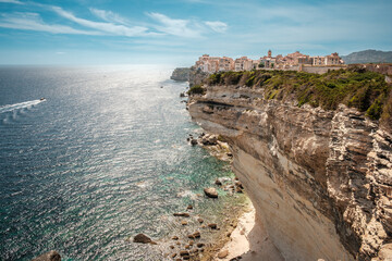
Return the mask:
M98 29L109 35L121 35L121 36L132 37L132 36L142 36L146 34L146 32L148 30L148 28L143 26L128 27L125 25L117 25L113 23L101 23L101 22L94 22L85 18L79 18L76 17L73 13L64 11L62 8L58 8L58 7L52 7L52 10L60 16L68 18L76 24L90 27L94 29Z

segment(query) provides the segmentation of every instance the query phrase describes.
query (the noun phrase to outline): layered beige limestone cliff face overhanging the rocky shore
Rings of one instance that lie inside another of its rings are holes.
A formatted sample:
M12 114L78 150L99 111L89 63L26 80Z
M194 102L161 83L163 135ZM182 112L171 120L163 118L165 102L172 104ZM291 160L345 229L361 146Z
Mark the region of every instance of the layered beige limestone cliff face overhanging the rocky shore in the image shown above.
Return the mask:
M324 111L264 97L262 88L207 86L188 110L231 145L269 239L286 260L388 260L391 133L345 105Z

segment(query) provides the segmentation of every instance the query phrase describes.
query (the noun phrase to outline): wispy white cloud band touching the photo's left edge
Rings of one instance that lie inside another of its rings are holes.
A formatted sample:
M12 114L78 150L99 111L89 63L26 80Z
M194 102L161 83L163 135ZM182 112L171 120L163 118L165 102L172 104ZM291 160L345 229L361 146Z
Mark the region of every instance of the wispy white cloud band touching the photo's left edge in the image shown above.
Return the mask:
M100 35L99 32L79 30L58 24L46 24L37 13L2 14L0 27L47 32L52 34Z

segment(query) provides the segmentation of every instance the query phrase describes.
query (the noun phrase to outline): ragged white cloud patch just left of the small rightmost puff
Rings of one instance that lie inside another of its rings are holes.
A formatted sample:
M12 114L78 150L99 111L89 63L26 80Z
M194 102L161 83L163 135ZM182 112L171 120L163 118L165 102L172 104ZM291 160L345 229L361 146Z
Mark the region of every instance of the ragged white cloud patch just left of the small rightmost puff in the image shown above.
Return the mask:
M180 37L200 36L201 32L199 28L197 28L198 25L194 24L192 26L193 28L191 28L191 22L188 20L174 20L160 13L148 13L147 15L159 23L159 25L154 25L154 27L164 34Z

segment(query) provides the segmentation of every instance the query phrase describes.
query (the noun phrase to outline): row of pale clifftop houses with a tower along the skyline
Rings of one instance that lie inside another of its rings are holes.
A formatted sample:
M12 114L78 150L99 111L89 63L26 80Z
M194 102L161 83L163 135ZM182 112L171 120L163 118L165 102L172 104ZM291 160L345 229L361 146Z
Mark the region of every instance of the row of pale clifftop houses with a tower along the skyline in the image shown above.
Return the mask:
M303 54L299 51L296 51L293 53L289 53L285 57L283 57L282 54L272 57L272 51L269 50L267 55L258 60L252 60L247 57L242 57L233 60L232 58L228 57L220 58L204 54L199 58L198 61L196 61L195 66L203 72L216 73L226 71L250 71L254 69L284 70L298 65L330 66L341 64L344 64L344 62L336 52L326 57L310 57L307 54Z

